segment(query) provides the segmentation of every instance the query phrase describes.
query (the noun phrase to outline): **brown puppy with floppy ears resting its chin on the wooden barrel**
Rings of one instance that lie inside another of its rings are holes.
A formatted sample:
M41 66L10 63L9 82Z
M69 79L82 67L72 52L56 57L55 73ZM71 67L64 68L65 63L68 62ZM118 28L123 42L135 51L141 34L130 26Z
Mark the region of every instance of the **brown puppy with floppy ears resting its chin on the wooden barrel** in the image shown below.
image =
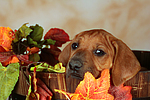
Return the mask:
M89 71L99 77L101 70L109 68L115 86L132 78L140 64L129 47L102 29L79 33L59 55L66 66L66 76L83 79Z

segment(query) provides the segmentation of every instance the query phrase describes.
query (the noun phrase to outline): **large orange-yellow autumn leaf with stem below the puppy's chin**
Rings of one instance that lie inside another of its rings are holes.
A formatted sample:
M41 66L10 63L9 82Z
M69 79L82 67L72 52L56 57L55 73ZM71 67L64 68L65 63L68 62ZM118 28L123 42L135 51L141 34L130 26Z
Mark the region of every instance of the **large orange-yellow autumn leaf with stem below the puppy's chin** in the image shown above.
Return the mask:
M95 79L91 73L86 72L83 81L79 83L75 93L67 93L57 89L55 91L63 93L71 100L113 100L114 97L108 93L109 87L109 69L105 69L98 79Z

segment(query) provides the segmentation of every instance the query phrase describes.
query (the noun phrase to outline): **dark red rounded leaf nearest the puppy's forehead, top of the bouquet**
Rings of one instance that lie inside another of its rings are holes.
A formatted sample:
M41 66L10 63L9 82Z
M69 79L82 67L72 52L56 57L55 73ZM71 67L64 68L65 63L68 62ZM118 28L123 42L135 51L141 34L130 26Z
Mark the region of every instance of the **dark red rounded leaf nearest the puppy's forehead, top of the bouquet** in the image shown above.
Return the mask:
M44 36L44 39L56 40L55 46L58 47L61 47L62 44L70 41L68 34L63 29L58 28L51 28Z

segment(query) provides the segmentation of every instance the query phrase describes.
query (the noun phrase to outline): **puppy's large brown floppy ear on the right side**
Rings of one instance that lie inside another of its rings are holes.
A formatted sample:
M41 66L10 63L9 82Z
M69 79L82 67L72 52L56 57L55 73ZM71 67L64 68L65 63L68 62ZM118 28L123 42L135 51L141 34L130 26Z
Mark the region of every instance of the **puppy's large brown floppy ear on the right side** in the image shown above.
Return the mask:
M115 86L119 86L132 78L141 67L137 58L125 43L121 40L116 40L112 44L115 48L112 81Z

